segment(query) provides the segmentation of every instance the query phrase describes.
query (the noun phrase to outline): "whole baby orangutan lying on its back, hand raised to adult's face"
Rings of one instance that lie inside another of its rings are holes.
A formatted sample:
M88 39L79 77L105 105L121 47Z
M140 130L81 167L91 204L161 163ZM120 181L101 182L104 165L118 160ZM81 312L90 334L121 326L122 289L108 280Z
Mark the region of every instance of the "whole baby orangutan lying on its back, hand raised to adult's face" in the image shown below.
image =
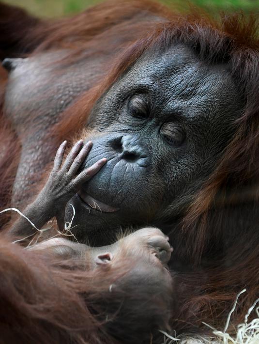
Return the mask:
M77 142L61 167L65 146L24 211L37 228L54 216L63 228L71 195L106 163L76 175L91 142ZM10 242L34 233L20 218L0 240L0 343L155 343L158 329L169 330L172 249L159 229L142 228L96 248L62 237L27 249Z

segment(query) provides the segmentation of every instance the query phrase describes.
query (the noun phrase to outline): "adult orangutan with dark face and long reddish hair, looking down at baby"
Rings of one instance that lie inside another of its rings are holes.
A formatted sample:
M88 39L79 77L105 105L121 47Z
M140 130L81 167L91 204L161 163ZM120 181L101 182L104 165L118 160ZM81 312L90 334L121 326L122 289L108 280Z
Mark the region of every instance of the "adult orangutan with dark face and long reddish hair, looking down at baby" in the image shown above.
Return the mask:
M68 221L76 209L76 238L105 245L129 226L156 226L170 237L181 286L171 326L222 326L245 287L233 324L243 319L259 295L256 20L180 15L149 1L56 21L0 9L1 56L19 58L3 62L12 204L30 203L61 141L91 139L82 170L107 163L62 213Z

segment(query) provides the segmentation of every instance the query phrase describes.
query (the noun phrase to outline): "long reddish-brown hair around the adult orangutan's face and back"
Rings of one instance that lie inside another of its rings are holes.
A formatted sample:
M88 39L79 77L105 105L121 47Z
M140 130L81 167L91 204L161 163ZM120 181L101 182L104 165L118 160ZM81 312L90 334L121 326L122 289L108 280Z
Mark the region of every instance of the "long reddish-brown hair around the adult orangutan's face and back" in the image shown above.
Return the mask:
M209 16L200 16L197 13L190 16L176 15L149 1L123 3L124 5L115 1L108 5L102 4L74 18L34 23L34 29L28 30L22 39L17 36L18 43L13 46L12 54L20 56L22 46L26 47L26 53L32 52L36 46L37 53L51 47L68 46L74 47L74 53L70 57L74 60L78 56L83 58L84 54L94 56L98 54L99 47L102 47L107 50L106 63L114 63L108 74L102 74L101 71L96 78L96 84L62 114L62 120L53 128L58 142L73 139L77 135L94 102L147 48L155 46L162 49L169 46L173 40L178 40L195 48L201 60L208 63L229 63L231 75L243 92L245 109L237 121L235 136L229 142L217 169L194 197L195 201L190 205L183 217L182 227L179 228L177 242L182 243L183 257L188 257L193 268L191 272L178 277L182 287L182 308L172 324L176 329L185 328L189 331L199 331L202 328L202 320L220 326L225 322L236 294L246 287L247 293L241 298L233 316L233 323L236 324L243 320L244 313L259 296L258 217L255 217L254 228L246 231L246 215L242 215L243 205L250 209L258 209L259 206L257 23L253 16L248 19L243 15L223 16L221 21L215 21ZM148 12L145 11L146 8L149 8ZM18 12L16 16L18 19ZM116 35L120 40L114 40L113 45L107 46L107 35ZM67 39L68 37L73 37L73 40ZM129 44L130 47L123 50ZM118 59L113 61L116 55ZM67 62L62 61L64 64ZM102 81L98 81L99 77L103 78ZM8 127L1 135L3 140L17 144L14 134L10 136ZM53 145L53 154L55 149L56 146ZM0 166L1 173L6 177L12 177L14 171L7 159L14 161L14 157L11 146L7 144L6 157ZM8 179L3 186L9 186ZM227 187L233 192L227 194ZM246 191L245 194L243 191ZM222 239L222 228L226 230L227 224L235 217L243 221L238 235L229 244L227 251L213 252L213 240ZM207 257L209 264L201 269L200 261Z

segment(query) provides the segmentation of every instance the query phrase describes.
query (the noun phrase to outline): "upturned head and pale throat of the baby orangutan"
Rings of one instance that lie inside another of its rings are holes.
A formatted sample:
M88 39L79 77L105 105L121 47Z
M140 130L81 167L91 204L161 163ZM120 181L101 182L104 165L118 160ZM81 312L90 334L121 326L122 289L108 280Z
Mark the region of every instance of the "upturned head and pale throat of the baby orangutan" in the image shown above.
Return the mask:
M59 257L85 262L91 274L86 283L94 286L87 303L113 337L140 344L158 329L169 329L174 283L167 263L172 248L159 229L142 228L97 248L62 238L39 246L43 244Z

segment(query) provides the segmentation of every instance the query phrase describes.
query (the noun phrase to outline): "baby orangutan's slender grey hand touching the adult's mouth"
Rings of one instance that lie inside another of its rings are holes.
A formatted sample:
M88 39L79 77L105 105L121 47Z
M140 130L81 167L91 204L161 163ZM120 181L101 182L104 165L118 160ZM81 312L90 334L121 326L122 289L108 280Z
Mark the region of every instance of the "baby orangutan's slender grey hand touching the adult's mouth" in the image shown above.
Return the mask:
M92 142L89 141L86 144L83 144L83 140L76 142L62 165L66 143L66 141L61 143L54 160L54 167L38 196L41 202L45 200L44 202L53 207L52 210L60 229L63 229L64 210L67 202L107 162L106 158L100 159L77 175L80 166L91 150Z

